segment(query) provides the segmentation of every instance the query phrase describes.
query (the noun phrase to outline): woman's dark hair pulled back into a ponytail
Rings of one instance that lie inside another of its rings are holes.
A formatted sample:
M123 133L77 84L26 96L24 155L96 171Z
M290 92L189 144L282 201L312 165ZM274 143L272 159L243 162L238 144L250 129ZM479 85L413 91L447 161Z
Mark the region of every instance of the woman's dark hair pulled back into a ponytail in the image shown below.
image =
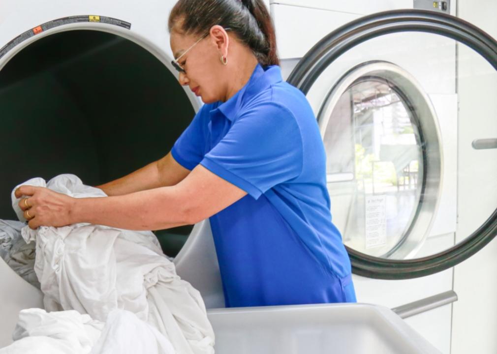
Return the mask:
M169 31L175 24L180 33L198 36L214 25L230 28L262 66L279 65L274 26L262 0L179 0L169 14Z

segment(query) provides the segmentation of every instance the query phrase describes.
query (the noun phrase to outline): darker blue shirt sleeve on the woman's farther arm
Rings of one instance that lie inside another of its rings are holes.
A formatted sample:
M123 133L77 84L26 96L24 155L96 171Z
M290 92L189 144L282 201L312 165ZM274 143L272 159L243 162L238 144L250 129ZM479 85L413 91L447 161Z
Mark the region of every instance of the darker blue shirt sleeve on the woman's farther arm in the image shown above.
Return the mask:
M174 160L189 170L194 169L204 157L207 136L206 119L209 114L207 109L207 105L202 106L171 149Z

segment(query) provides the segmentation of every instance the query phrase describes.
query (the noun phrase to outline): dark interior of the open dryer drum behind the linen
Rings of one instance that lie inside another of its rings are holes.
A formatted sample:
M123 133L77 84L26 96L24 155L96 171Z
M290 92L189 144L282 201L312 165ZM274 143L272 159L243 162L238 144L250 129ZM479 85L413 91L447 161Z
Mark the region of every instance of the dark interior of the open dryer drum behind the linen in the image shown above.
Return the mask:
M78 175L86 185L122 177L169 152L194 110L177 78L119 36L67 31L35 41L0 71L0 218L33 177ZM175 256L192 226L156 231Z

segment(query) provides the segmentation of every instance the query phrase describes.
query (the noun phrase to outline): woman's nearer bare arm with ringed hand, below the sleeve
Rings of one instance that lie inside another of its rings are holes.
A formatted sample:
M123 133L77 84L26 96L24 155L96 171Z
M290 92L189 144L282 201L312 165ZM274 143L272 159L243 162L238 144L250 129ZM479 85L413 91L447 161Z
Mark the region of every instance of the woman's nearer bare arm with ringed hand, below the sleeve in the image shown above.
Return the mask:
M64 226L77 222L131 230L159 230L193 224L219 212L247 193L198 165L174 186L122 196L75 199L47 188L21 186L27 200L29 226ZM26 210L24 199L19 207Z

